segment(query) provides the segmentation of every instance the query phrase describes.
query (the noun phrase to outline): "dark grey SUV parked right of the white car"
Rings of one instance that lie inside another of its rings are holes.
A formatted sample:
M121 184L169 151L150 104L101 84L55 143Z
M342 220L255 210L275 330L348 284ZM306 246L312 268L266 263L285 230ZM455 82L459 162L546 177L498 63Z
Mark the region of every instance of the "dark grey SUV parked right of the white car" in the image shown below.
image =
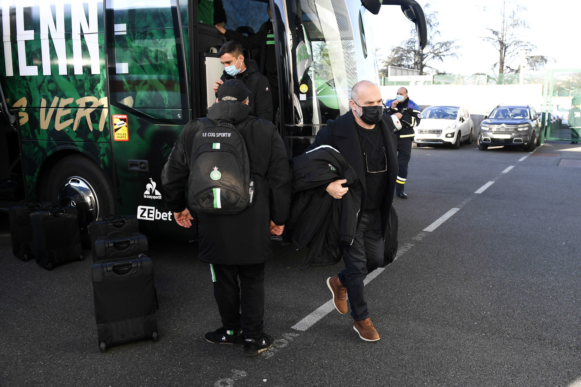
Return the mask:
M526 152L541 145L541 123L534 107L498 105L484 116L478 130L478 149L498 145L521 146Z

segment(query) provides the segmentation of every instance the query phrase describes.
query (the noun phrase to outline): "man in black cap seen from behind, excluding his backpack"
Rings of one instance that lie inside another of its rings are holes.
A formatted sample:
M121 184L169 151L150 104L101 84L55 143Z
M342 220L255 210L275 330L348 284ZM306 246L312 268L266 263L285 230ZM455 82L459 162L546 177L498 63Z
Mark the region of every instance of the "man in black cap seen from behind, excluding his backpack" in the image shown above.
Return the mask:
M223 324L208 332L206 340L243 344L244 354L254 356L269 349L273 342L263 332L264 264L272 257L270 234L282 234L289 214L291 175L284 143L274 125L250 117L249 94L242 81L225 81L218 88L217 103L208 109L207 117L216 125L232 124L241 132L254 181L253 205L236 214L196 216L199 259L210 264L214 298ZM173 210L175 221L186 228L191 227L193 217L184 188L193 137L203 128L200 120L184 127L162 171L167 205Z

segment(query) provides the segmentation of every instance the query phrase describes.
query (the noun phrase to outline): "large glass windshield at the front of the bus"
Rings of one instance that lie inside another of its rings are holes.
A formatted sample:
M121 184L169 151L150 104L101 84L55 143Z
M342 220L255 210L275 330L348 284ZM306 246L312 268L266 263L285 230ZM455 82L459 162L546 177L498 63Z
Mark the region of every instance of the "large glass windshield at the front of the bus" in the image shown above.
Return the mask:
M290 0L286 5L293 41L295 123L336 119L349 110L349 90L357 82L345 0Z

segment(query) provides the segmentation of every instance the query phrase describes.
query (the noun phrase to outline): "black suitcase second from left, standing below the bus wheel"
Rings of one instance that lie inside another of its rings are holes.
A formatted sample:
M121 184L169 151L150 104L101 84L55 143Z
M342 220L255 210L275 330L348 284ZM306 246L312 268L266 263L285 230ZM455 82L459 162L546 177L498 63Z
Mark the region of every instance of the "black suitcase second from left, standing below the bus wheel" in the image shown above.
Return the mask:
M33 253L37 263L51 270L70 261L83 260L77 209L58 207L30 214Z

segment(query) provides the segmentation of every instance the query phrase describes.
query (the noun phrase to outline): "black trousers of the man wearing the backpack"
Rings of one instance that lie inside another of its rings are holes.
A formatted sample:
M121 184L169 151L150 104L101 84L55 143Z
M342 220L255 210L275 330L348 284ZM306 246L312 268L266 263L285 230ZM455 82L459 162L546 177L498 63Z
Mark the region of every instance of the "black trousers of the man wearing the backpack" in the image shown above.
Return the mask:
M264 318L264 263L211 264L210 270L224 328L232 331L242 328L246 336L259 338Z

